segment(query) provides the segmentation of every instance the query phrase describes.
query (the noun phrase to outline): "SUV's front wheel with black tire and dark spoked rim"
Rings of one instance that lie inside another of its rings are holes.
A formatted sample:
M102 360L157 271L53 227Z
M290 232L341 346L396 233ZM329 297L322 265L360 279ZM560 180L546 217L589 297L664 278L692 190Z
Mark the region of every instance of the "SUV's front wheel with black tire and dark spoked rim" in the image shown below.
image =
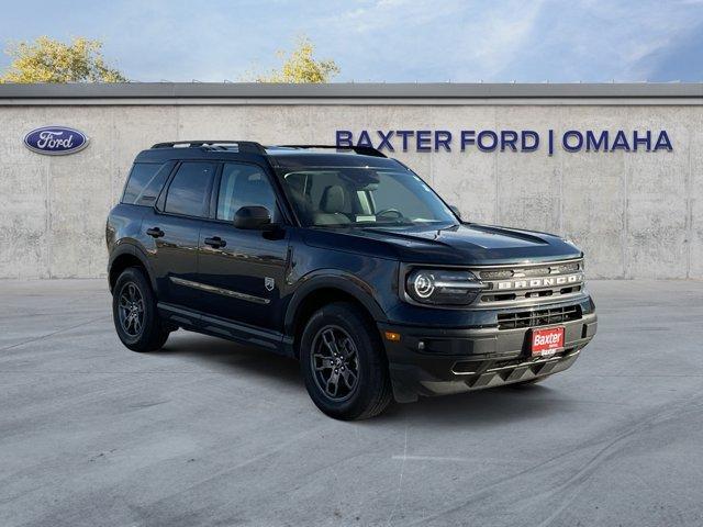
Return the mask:
M325 305L310 317L300 341L300 367L313 403L335 419L367 419L392 402L378 328L350 303Z

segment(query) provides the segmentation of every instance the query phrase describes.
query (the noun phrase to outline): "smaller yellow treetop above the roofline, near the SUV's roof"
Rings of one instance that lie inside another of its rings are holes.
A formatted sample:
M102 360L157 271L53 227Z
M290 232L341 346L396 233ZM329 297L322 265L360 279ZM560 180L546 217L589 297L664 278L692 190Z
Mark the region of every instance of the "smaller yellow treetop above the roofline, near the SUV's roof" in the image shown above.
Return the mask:
M268 75L255 76L256 82L328 82L339 72L339 67L332 59L317 60L313 57L315 47L305 36L298 37L295 48L286 53L277 53L282 60L280 69L274 69Z

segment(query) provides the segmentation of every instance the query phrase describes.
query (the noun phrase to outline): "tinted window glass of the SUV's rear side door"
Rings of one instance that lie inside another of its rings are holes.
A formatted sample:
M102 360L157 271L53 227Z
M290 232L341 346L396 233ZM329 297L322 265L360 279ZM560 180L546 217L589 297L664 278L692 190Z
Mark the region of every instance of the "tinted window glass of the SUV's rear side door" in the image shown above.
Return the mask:
M174 214L202 216L213 173L214 168L210 162L183 162L168 188L164 210Z

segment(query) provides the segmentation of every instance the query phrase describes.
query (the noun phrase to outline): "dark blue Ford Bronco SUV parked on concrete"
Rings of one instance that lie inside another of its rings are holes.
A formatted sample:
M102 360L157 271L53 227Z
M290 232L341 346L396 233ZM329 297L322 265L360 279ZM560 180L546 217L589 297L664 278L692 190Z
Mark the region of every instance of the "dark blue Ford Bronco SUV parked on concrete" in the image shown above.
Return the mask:
M372 148L154 145L107 240L127 348L183 328L294 357L336 418L540 381L596 328L580 249L464 222Z

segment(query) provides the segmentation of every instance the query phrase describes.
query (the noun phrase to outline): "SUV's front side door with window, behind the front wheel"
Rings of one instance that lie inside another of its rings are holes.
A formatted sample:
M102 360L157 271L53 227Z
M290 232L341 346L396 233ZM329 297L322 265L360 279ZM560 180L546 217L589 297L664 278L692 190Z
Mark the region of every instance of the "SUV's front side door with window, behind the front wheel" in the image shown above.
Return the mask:
M232 223L239 208L250 205L265 206L274 222L280 220L270 181L258 165L225 162L215 192L216 212L200 231L198 279L207 285L200 311L280 332L288 232L283 226L247 231Z

